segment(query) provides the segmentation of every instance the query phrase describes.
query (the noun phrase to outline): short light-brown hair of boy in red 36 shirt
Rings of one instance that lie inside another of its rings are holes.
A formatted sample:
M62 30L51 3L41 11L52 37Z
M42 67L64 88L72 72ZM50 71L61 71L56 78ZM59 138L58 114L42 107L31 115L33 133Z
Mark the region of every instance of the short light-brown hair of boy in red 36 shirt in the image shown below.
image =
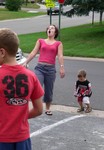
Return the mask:
M17 34L8 28L0 29L0 48L3 48L11 56L15 56L19 46Z

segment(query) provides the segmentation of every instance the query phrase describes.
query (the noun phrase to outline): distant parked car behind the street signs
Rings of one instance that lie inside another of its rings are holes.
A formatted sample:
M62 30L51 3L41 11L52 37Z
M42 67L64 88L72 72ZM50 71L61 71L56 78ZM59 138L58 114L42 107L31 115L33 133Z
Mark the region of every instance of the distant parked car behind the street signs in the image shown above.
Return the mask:
M51 10L51 12L50 12ZM58 2L55 2L55 7L53 8L47 8L47 15L49 15L50 13L53 14L53 13L57 13L59 14L59 11L60 11L60 4ZM61 6L61 13L63 12L63 7Z

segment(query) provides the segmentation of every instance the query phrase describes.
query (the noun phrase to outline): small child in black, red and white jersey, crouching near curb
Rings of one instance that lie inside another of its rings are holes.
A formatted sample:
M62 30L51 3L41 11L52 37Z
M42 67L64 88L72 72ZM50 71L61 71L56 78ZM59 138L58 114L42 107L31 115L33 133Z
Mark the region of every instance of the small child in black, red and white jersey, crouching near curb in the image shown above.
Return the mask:
M77 97L80 106L77 112L85 111L85 113L89 113L92 111L92 108L90 106L90 100L89 100L89 98L92 95L91 83L86 79L85 70L80 70L78 72L77 77L78 80L75 83L75 93L74 93L74 96ZM85 109L83 104L86 105Z

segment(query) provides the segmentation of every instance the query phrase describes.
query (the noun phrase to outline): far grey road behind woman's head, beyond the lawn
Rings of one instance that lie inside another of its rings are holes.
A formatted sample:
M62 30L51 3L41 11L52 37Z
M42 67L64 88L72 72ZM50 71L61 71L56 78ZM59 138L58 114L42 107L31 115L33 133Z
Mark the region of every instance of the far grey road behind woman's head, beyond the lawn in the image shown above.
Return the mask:
M61 28L76 26L86 23L91 23L91 17L82 16L82 17L73 17L68 18L65 16L61 17ZM95 14L95 21L99 20L99 14ZM59 25L59 16L52 15L52 23ZM26 19L15 19L15 20L6 20L0 21L0 28L10 28L15 31L17 34L26 34L45 31L46 27L50 24L50 18L48 15L26 18Z

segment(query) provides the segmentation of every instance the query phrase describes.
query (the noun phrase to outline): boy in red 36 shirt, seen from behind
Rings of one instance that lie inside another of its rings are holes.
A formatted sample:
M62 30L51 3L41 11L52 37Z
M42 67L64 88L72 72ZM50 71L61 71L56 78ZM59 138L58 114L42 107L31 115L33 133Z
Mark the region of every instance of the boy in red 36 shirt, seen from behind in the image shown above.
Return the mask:
M0 150L31 150L28 119L43 111L43 89L33 72L17 64L18 46L16 33L0 29Z

